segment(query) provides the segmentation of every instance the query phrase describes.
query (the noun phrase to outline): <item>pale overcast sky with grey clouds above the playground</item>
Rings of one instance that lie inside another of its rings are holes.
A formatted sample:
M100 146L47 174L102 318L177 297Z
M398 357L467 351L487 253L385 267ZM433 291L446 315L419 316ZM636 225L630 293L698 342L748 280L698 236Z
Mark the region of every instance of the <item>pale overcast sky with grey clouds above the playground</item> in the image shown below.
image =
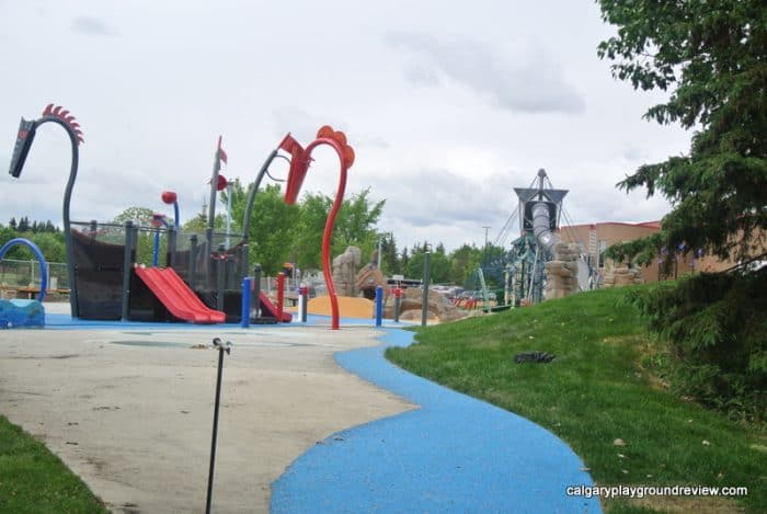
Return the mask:
M539 168L575 224L659 219L663 199L615 184L690 134L642 119L663 96L611 78L596 46L613 33L591 0L0 0L0 222L60 224L59 127L37 133L21 179L5 171L19 118L51 102L84 133L75 220L172 214L173 190L184 221L219 134L222 173L248 183L286 133L306 146L324 124L356 151L347 194L386 198L379 228L400 245L482 245L483 226L494 240ZM304 191L332 195L337 158L314 157Z

